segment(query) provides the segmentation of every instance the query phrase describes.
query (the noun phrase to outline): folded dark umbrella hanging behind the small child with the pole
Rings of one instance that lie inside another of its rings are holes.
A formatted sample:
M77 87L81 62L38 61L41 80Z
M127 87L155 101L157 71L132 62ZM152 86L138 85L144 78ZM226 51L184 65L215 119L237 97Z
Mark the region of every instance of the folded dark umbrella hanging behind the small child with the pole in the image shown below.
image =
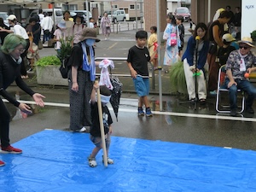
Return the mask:
M119 81L118 77L112 75L111 70L110 70L110 82L113 85L113 90L110 97L110 103L112 105L116 120L118 121L119 103L120 103L120 97L122 94L123 84Z

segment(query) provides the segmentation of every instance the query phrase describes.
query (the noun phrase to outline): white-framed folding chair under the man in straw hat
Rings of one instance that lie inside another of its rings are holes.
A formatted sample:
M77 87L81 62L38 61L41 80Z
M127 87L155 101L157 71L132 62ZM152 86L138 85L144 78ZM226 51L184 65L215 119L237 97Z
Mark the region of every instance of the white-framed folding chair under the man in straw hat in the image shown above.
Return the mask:
M230 110L224 110L224 106L220 105L220 99L221 99L221 92L229 92L228 89L225 89L223 87L223 83L224 83L224 77L226 76L226 71L225 71L225 65L220 67L218 70L218 89L217 89L217 96L216 96L216 111L218 113L230 113ZM244 92L241 90L237 90L237 92L241 92L241 110L238 113L242 113L244 111L245 108L245 96L244 96ZM237 97L238 98L238 97ZM223 106L221 108L221 106ZM230 107L230 104L227 105L227 107Z

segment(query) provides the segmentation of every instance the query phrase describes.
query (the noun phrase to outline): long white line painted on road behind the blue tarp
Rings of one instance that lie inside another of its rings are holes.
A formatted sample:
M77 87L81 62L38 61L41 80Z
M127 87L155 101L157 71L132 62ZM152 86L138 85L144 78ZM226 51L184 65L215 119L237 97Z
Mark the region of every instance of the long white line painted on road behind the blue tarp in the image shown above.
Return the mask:
M130 99L135 101L135 99ZM32 101L23 101L18 100L19 102L24 102L27 104L36 104L36 102ZM137 100L136 100L137 101ZM3 99L3 102L8 102L6 99ZM58 103L58 102L44 102L45 106L52 106L52 107L64 107L69 108L69 104L67 103ZM109 108L109 110L113 110L113 108ZM129 113L137 113L136 109L129 109L129 108L122 108L119 107L119 111L121 112L129 112ZM204 118L204 119L224 119L224 120L240 120L240 121L249 121L249 122L256 122L255 118L244 118L244 117L230 117L230 116L220 116L220 115L212 115L212 114L198 114L198 113L175 113L175 112L160 112L160 111L152 111L154 114L160 115L170 115L170 116L178 116L178 117L192 117L192 118Z

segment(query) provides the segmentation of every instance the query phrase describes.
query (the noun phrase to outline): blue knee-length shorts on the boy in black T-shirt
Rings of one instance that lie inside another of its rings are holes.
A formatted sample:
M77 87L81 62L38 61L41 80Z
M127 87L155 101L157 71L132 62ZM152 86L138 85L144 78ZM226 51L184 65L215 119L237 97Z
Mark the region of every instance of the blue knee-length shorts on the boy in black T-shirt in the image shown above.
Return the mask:
M149 94L149 79L137 76L133 79L134 87L138 96L148 96Z

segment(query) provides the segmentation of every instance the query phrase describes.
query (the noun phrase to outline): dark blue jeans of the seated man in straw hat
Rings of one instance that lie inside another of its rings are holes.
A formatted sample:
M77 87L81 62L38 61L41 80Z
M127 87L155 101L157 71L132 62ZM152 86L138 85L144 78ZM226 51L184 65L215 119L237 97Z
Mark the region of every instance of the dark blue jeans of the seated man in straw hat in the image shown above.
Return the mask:
M246 108L250 108L253 106L253 100L256 97L256 88L251 84L247 79L235 79L236 84L232 84L229 89L230 95L230 110L236 110L236 97L237 90L242 90L247 93L246 98ZM225 79L224 85L227 88L230 83L230 79Z

